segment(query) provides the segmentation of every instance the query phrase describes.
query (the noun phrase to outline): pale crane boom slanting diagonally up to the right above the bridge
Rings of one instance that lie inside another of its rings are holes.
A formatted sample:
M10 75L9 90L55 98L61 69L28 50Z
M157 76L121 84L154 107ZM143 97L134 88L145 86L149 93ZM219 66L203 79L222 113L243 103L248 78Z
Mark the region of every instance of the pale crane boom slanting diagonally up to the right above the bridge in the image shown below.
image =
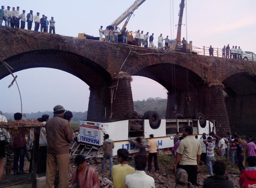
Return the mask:
M136 10L142 3L144 3L146 0L136 0L132 6L130 6L126 11L124 11L123 14L121 14L121 16L119 16L112 24L110 24L111 26L118 26L120 23L122 23L122 21L124 21L126 18L126 22L124 24L124 26L122 27L122 29L124 29L130 19L130 17L132 16L134 10Z

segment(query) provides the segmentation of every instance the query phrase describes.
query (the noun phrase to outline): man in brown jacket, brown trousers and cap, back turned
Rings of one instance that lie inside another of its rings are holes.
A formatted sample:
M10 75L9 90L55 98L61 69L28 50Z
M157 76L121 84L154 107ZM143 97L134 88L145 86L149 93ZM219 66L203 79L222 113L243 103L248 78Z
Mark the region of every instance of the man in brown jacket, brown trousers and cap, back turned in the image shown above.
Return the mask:
M63 119L67 111L61 105L54 106L54 116L45 124L47 134L46 187L54 186L57 166L59 169L59 188L68 187L69 148L73 131L67 120Z

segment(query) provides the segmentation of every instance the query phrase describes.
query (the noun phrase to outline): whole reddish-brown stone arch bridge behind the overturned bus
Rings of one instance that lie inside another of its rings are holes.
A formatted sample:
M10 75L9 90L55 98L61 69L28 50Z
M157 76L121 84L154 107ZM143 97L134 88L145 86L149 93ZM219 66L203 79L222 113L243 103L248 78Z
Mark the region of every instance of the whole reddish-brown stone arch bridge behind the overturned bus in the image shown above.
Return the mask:
M90 86L88 120L124 118L134 110L131 76L144 76L168 90L166 118L202 112L206 119L217 120L222 132L256 136L256 63L4 26L0 34L0 57L13 72L56 68L86 82ZM0 64L0 79L9 74Z

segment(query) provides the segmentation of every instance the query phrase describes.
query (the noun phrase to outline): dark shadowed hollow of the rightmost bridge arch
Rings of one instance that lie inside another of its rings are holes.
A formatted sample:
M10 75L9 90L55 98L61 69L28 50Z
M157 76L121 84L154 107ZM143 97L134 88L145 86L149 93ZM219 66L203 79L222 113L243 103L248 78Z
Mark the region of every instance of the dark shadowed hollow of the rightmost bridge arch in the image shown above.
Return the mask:
M256 76L240 72L223 82L230 128L245 136L255 131Z

